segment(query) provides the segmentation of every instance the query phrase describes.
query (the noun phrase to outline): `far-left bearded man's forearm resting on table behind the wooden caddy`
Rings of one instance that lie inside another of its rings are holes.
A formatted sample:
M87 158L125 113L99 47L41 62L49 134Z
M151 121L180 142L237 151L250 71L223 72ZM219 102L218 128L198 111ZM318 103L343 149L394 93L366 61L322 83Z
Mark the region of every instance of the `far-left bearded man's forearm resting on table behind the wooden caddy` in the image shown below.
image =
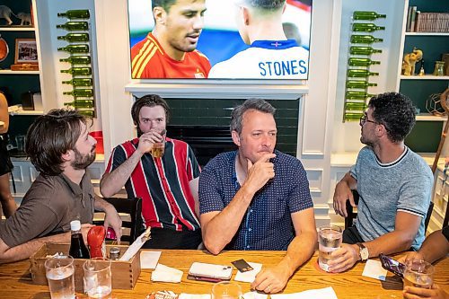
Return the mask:
M31 254L38 251L46 242L69 243L70 232L34 239L12 248L8 247L3 240L0 239L0 263L29 259Z

